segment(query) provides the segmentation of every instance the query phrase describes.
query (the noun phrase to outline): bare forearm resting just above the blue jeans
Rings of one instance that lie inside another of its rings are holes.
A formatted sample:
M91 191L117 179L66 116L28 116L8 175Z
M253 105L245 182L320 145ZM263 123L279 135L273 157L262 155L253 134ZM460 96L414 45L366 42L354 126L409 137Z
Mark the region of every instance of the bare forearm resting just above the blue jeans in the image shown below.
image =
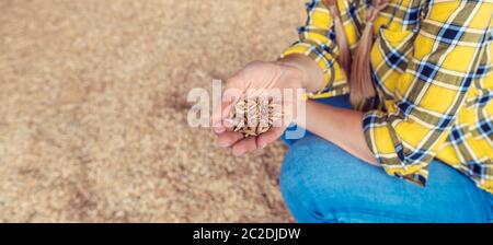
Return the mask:
M363 113L307 102L305 128L372 165L379 165L363 131Z

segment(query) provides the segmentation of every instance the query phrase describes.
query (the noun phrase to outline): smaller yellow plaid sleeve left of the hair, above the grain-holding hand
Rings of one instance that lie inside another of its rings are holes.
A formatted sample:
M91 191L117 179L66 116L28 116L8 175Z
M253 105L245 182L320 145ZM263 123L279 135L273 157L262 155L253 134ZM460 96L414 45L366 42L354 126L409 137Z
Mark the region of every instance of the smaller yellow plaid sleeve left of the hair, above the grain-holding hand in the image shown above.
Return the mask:
M309 97L328 97L347 93L347 83L336 61L339 47L335 43L333 23L329 9L321 0L306 4L308 20L298 28L299 40L286 49L282 57L302 54L312 58L324 72L325 85Z

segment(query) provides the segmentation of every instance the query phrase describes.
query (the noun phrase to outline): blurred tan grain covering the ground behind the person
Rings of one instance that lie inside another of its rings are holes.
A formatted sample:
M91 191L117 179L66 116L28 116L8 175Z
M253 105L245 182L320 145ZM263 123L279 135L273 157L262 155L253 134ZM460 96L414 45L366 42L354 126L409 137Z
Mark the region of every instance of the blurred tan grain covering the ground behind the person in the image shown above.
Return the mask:
M276 58L303 1L0 0L0 221L293 221L282 143L234 159L186 94Z

